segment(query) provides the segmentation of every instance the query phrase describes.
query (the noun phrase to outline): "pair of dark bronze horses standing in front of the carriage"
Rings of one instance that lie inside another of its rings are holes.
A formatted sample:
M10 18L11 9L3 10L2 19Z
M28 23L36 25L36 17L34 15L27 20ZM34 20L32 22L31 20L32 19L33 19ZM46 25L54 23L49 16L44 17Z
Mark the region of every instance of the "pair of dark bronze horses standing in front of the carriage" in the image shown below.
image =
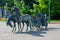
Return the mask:
M24 27L24 23L27 24L27 29L28 30L28 26L30 26L31 28L31 16L29 14L25 14L25 15L21 15L19 14L19 10L18 9L14 9L13 11L16 12L16 15L11 15L8 20L7 20L7 25L12 26L11 24L11 20L13 21L14 27L13 27L13 31L16 31L16 22L18 24L18 32L22 32L22 29ZM21 23L23 24L23 27L21 28Z

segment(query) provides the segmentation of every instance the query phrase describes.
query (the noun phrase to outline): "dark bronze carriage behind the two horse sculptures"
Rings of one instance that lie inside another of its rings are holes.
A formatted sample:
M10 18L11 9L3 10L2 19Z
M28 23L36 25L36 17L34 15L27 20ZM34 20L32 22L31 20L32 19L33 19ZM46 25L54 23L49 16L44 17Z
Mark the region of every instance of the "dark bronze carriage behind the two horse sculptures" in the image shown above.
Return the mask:
M47 29L47 15L38 13L35 17L32 16L32 26L37 27L38 30L41 30L43 26Z

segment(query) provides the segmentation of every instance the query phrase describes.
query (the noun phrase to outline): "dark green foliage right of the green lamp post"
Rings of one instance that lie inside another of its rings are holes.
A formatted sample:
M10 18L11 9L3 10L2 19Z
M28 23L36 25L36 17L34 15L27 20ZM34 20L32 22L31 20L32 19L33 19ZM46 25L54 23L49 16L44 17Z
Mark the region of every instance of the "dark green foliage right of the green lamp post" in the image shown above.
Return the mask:
M51 18L60 14L60 0L51 0Z

